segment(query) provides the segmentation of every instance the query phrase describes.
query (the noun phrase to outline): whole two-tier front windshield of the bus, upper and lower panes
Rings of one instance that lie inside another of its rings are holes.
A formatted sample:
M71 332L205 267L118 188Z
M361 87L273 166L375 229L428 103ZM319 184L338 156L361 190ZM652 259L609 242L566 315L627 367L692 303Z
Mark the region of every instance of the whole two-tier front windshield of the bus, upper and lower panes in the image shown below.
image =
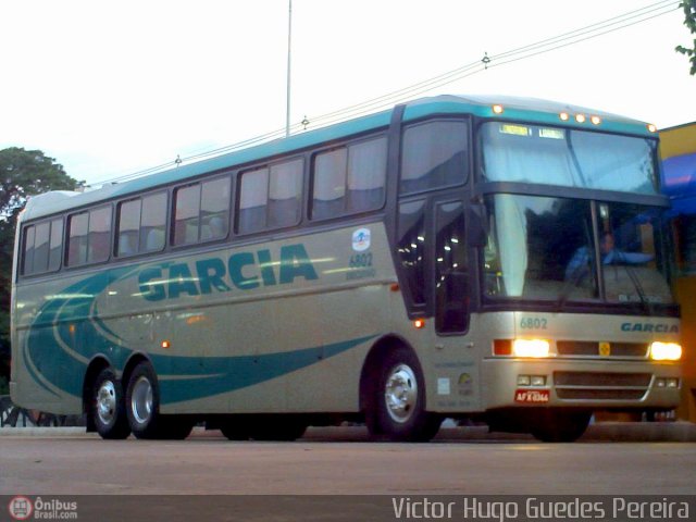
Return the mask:
M506 125L483 126L487 181L657 194L651 140ZM644 308L674 302L663 209L514 194L488 195L485 203L488 298L559 307L569 301Z

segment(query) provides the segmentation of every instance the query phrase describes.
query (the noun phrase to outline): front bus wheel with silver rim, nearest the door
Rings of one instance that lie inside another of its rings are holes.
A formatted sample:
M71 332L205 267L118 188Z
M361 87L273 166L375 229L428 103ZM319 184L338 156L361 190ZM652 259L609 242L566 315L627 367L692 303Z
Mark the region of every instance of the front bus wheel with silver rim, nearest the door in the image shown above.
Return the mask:
M427 442L442 419L425 411L425 380L415 355L403 347L381 361L376 386L368 405L368 427L373 438Z

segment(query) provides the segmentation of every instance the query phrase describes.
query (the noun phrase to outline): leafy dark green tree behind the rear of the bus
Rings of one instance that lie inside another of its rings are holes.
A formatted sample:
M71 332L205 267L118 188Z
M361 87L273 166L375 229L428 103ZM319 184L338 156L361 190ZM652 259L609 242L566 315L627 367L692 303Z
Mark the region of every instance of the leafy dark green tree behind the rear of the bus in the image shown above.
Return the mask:
M74 190L80 184L63 165L40 150L0 150L0 377L9 374L10 291L14 228L30 196L48 190Z

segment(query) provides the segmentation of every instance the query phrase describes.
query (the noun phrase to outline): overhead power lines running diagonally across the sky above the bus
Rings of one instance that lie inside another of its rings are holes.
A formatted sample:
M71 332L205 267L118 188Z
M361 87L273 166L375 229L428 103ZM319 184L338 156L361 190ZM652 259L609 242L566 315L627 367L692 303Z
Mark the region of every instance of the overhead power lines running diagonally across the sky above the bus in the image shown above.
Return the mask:
M561 35L555 36L551 38L546 38L544 40L539 40L533 44L529 44L526 46L518 47L515 49L504 51L497 54L493 54L490 57L488 57L488 54L486 53L483 60L470 62L460 67L453 69L451 71L431 77L428 79L419 82L417 84L412 84L410 86L378 96L376 98L372 98L361 103L356 103L356 104L348 105L326 114L322 114L320 116L310 119L310 121L314 126L323 127L323 126L331 125L333 123L345 121L348 117L361 116L361 115L374 112L375 110L391 107L396 103L406 101L408 99L412 99L414 96L422 95L435 88L443 87L445 85L448 85L455 82L459 82L467 77L482 73L487 69L506 65L506 64L518 62L521 60L526 60L529 58L537 57L539 54L555 51L557 49L562 49L564 47L580 44L580 42L589 40L592 38L597 38L599 36L604 36L609 33L624 29L626 27L631 27L631 26L647 22L649 20L654 20L664 14L669 14L676 9L679 9L678 1L662 0L659 2L651 3L649 5L646 5L644 8L639 8L639 9L613 16L611 18L607 18L601 22L587 25L585 27L581 27L579 29L563 33ZM290 132L301 130L302 128L303 128L302 123L296 123L290 126ZM196 160L202 160L206 158L221 156L223 153L232 152L232 151L247 148L253 145L282 138L285 135L286 135L286 128L275 129L275 130L256 136L253 138L246 139L244 141L238 141L233 145L228 145L228 146L220 147L216 149L195 153L192 156L188 156L186 158L181 159L181 161L178 161L176 164L179 164L181 162L188 163ZM172 167L174 164L175 164L174 162L163 163L163 164L152 166L142 171L134 172L132 174L126 174L126 175L114 177L111 179L97 182L94 185L134 179L136 177L140 177L147 174L152 174L152 173Z

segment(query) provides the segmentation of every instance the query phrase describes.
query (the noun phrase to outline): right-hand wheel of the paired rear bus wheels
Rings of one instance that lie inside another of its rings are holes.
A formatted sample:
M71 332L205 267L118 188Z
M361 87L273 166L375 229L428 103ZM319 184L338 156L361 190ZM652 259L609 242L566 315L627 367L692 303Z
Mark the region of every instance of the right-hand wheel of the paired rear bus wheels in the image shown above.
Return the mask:
M125 403L130 430L137 438L181 440L194 428L194 422L186 418L160 413L157 376L149 362L139 363L130 374Z

